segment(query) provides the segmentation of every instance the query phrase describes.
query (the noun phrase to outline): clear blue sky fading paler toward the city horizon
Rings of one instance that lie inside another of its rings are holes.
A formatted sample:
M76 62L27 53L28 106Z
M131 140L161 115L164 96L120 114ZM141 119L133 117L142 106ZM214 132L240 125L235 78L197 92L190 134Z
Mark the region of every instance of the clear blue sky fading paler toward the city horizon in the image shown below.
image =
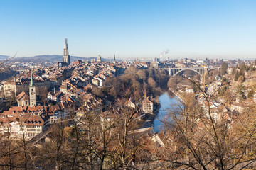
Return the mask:
M256 58L255 0L0 0L0 55Z

